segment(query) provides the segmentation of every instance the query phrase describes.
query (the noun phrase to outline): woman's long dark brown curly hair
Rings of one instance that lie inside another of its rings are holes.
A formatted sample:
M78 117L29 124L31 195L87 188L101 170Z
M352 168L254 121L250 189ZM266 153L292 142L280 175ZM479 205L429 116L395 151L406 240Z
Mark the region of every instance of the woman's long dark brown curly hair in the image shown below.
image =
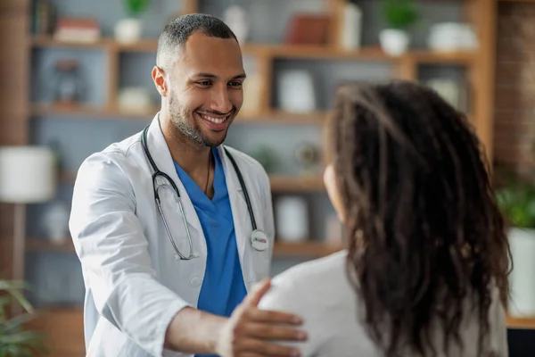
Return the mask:
M413 355L436 353L434 321L445 348L452 338L462 347L468 300L481 349L493 288L506 303L510 251L465 115L416 83L354 84L337 92L326 130L347 272L374 342L387 356L407 346Z

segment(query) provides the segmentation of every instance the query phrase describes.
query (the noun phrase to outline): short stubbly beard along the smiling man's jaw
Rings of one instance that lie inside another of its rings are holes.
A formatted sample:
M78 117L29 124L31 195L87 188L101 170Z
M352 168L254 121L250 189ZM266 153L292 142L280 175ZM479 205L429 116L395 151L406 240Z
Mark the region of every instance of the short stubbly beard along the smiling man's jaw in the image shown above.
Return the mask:
M177 96L175 93L171 91L169 95L169 113L171 115L171 121L185 137L193 140L193 142L199 145L206 147L215 147L221 145L225 141L226 133L225 136L217 142L211 141L210 137L206 137L204 134L202 134L201 129L194 119L193 123L190 124L188 112L184 106L177 102Z

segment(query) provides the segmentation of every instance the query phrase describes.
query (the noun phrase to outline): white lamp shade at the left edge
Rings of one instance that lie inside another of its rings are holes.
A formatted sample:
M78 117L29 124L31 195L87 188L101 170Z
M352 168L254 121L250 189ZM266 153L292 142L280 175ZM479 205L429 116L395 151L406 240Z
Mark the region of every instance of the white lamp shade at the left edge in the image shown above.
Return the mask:
M43 146L0 146L0 202L41 203L56 190L55 155Z

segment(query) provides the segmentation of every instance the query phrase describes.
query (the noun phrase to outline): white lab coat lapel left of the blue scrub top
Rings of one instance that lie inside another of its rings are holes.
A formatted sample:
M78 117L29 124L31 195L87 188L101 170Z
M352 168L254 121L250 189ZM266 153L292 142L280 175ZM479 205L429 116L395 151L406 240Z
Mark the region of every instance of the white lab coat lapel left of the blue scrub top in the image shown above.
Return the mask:
M168 174L169 177L175 181L175 184L178 187L178 192L180 193L180 197L182 198L185 220L190 225L190 228L195 228L197 230L197 234L199 234L202 237L202 241L204 241L201 221L197 216L197 212L195 212L189 195L187 195L187 192L185 191L182 181L178 179L175 163L173 162L173 158L169 152L169 147L165 141L165 137L163 137L163 133L161 132L158 114L156 114L152 120L149 132L147 134L147 145L149 147L149 151L151 152L152 160L154 160L156 166L158 166L161 171ZM180 220L182 220L182 218L180 218Z

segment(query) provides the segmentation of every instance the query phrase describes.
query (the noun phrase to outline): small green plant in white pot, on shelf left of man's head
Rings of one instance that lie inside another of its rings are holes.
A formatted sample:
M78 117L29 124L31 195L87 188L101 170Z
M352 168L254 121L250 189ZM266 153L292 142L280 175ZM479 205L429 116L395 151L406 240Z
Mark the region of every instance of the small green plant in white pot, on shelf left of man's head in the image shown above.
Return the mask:
M123 44L132 44L141 38L143 23L140 19L149 5L149 0L124 0L129 14L115 26L115 39Z

